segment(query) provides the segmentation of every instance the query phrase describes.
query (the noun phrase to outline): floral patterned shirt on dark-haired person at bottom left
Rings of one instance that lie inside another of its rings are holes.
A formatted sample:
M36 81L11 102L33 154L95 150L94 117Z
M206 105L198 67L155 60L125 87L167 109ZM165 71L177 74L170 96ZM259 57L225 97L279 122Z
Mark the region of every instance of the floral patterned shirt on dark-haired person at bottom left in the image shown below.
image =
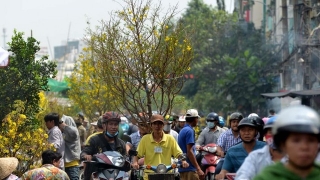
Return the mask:
M69 180L67 173L55 167L52 164L44 164L40 168L36 168L24 173L22 180Z

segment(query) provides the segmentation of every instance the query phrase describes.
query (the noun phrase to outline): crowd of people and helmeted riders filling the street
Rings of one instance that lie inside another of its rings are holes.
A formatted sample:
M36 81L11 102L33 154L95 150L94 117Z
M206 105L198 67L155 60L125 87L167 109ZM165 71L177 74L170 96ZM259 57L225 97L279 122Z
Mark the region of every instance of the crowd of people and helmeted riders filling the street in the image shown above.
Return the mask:
M123 122L134 122L124 126ZM227 121L215 112L206 117L204 128L196 139L194 127L200 116L189 109L182 116L152 115L145 117L121 116L106 112L93 123L96 132L87 134L84 117L70 117L50 113L44 117L48 128L48 141L56 151L44 151L42 166L23 174L21 179L79 179L80 160L91 161L93 156L105 151L117 151L123 156L130 150L133 169L143 165L171 164L172 158L181 162L181 180L200 180L206 175L201 164L202 146L216 144L220 157L215 169L215 179L225 179L234 173L236 180L269 179L320 179L319 140L320 118L313 109L295 105L270 116L260 118L252 113L244 117L232 113ZM228 127L224 127L227 124ZM120 136L121 129L124 135ZM151 129L151 130L150 130ZM126 137L126 135L129 135ZM0 158L0 180L17 179L11 174L18 165L16 158ZM6 167L6 168L4 168ZM146 169L144 179L154 173Z

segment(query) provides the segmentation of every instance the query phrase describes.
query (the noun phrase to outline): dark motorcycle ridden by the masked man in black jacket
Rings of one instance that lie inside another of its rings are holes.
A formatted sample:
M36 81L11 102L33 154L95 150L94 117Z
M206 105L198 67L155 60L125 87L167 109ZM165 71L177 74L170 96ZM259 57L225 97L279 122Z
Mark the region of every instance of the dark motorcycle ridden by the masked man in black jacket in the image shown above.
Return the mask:
M117 151L96 154L84 164L84 180L129 180L130 162Z

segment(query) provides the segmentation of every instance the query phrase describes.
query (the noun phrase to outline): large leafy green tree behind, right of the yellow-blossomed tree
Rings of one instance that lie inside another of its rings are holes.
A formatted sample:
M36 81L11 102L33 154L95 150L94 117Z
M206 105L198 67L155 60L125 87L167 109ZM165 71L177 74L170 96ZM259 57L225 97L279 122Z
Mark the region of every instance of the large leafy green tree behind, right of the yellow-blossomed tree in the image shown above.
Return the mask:
M199 7L207 8L209 15ZM208 20L204 19L207 16L211 22L201 23ZM200 0L190 1L182 19L186 27L202 32L192 36L193 42L197 44L194 46L197 59L192 66L195 79L186 83L182 95L191 99L194 107L205 112L256 111L253 108L259 107L256 102L263 101L257 94L268 92L274 86L271 80L277 69L277 47L267 43L264 35L254 29L252 23L239 21L237 13L229 14L210 8ZM248 57L244 56L248 52ZM251 63L252 58L254 63ZM239 63L232 64L228 61L230 59L238 59ZM243 66L240 62L251 65ZM263 75L256 76L258 72ZM249 77L258 80L251 81ZM250 86L246 89L248 95L243 96L230 90L230 82L237 86ZM263 85L256 84L258 82ZM262 103L259 105L262 106Z

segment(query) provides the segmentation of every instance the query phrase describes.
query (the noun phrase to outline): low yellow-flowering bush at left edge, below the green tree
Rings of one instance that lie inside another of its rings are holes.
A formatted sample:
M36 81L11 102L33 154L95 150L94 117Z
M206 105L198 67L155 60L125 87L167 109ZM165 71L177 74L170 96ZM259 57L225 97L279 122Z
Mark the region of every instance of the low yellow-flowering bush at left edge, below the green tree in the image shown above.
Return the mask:
M40 95L40 101L43 96ZM47 141L48 134L41 128L43 120L28 119L24 114L24 103L16 101L14 110L1 123L0 157L16 157L19 160L17 175L39 166L41 153L54 149Z

